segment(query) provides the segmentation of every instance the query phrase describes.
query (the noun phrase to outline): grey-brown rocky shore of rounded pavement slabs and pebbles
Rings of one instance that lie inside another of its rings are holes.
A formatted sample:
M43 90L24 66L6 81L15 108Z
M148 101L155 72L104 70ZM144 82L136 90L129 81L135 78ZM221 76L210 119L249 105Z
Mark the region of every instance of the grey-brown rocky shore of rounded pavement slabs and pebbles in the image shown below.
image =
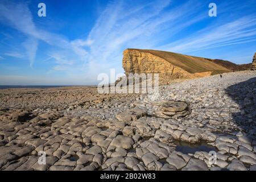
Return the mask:
M143 95L0 90L0 169L256 170L256 71L222 76Z

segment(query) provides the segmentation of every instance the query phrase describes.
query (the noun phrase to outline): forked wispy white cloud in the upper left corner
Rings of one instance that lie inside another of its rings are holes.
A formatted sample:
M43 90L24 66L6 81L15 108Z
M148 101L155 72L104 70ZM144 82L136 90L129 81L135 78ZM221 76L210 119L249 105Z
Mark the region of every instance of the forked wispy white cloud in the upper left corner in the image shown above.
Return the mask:
M65 49L65 51L72 52L81 58L84 58L87 53L82 46L90 42L72 42L64 36L53 34L52 32L44 31L36 27L31 11L28 9L26 3L3 1L0 3L0 16L1 22L28 36L28 40L23 46L27 51L31 67L35 60L38 40L42 40L51 46Z

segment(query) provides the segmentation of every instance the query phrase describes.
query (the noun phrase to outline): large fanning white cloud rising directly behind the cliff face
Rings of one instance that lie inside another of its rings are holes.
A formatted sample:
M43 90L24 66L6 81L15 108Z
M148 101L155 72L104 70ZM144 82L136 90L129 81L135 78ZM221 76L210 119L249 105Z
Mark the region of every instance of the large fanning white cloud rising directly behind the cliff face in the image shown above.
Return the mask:
M88 68L89 75L106 72L110 68L123 72L121 60L124 49L155 48L165 36L170 37L205 18L200 15L191 18L195 14L191 11L191 6L201 7L202 3L188 1L165 11L171 5L172 1L169 0L156 0L134 6L130 6L127 1L110 2L85 39L92 41L88 61L84 65ZM184 19L188 21L181 23Z

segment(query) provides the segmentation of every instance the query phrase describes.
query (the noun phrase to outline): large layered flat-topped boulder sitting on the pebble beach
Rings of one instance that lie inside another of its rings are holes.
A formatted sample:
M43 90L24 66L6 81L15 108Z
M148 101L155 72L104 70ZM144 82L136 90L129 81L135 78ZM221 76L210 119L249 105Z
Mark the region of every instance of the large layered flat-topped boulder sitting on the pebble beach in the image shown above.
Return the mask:
M191 113L189 105L181 101L154 101L151 103L154 107L154 115L159 118L179 118Z

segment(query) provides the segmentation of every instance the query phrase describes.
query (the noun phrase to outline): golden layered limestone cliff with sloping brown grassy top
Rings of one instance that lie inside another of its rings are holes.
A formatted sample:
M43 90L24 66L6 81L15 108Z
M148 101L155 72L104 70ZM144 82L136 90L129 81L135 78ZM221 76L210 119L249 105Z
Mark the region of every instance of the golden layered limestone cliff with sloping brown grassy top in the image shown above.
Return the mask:
M143 49L126 49L123 52L123 69L126 75L159 73L161 83L230 72L229 69L202 57Z

